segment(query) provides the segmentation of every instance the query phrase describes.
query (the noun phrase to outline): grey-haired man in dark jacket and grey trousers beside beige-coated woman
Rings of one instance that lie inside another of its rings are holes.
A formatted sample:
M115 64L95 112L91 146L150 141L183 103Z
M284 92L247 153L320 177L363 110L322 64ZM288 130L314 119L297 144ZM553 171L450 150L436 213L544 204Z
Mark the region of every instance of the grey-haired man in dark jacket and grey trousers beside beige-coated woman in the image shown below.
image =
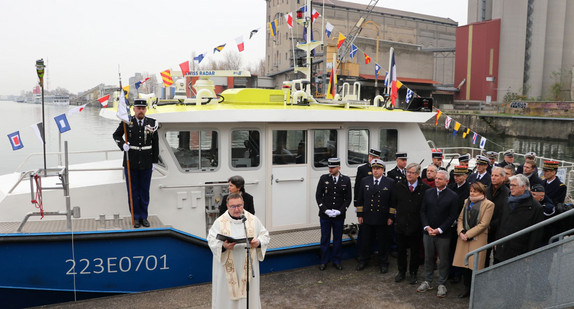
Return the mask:
M425 281L417 288L417 292L432 289L435 253L440 260L438 271L438 297L445 297L445 286L449 270L450 234L456 233L451 228L457 218L458 196L447 188L448 172L438 171L435 179L436 189L425 192L421 206L421 223L423 225L423 244L425 248Z

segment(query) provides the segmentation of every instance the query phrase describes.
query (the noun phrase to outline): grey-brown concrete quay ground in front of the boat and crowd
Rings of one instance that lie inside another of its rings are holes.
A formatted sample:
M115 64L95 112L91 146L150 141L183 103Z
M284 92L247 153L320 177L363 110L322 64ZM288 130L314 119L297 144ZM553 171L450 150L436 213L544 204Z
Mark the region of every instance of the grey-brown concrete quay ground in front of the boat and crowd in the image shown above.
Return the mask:
M325 271L310 266L261 276L263 308L467 308L468 298L459 299L462 282L447 283L445 298L436 296L434 288L418 293L416 285L394 282L396 259L390 258L389 272L381 274L371 263L363 271L356 271L354 260L343 261L339 271L329 265ZM422 276L419 269L419 282ZM40 308L210 308L211 284L201 284L138 294L117 295L79 302L61 303Z

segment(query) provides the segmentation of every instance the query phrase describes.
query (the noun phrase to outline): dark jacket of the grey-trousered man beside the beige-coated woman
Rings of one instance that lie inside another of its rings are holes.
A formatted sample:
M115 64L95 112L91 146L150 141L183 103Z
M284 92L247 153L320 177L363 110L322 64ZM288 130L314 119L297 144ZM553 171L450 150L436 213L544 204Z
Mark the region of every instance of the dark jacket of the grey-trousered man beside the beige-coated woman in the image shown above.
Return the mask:
M423 228L430 226L433 229L440 228L442 234L438 237L450 237L451 226L458 214L458 195L445 187L437 196L436 188L426 190L421 206L421 223ZM427 233L427 231L425 231ZM427 233L428 234L428 233Z

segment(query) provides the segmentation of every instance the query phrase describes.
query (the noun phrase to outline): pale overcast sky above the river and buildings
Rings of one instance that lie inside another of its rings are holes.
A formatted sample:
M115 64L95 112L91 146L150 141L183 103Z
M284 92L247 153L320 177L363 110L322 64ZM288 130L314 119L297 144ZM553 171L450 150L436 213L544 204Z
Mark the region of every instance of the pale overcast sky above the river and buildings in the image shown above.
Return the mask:
M365 4L369 0L348 0ZM20 95L38 84L35 62L46 62L45 86L78 93L100 83L124 84L135 73L179 71L192 54L227 44L246 67L265 55L264 0L0 0L0 95ZM465 0L380 0L377 6L447 17L465 25ZM285 26L285 24L283 24ZM260 28L249 40L249 33ZM223 52L226 52L226 49ZM229 51L227 51L229 52Z

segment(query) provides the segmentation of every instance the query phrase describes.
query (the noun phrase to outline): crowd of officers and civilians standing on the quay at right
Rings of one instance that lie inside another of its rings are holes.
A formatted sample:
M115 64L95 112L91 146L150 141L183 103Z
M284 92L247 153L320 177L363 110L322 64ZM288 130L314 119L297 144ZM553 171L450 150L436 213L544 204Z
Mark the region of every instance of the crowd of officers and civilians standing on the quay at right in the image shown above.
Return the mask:
M556 177L558 162L544 161L540 178L532 152L515 168L512 152L506 152L504 160L496 163L498 153L489 151L475 158L475 170L468 167L470 155L461 155L459 165L450 173L443 167L439 151L432 152L432 164L422 171L420 164L408 163L406 153L397 153L396 167L386 171L380 155L379 150L370 149L369 163L357 169L354 188L350 178L341 173L340 160L329 159L329 173L321 176L316 190L320 270L325 270L329 261L336 269L343 269L343 223L353 202L359 221L357 271L363 270L376 252L380 272L387 273L388 256L395 249L395 282L417 284L419 266L424 265L418 292L434 288L433 275L438 270L438 297L446 296L449 278L453 283L462 280L465 291L459 297L468 297L474 262L471 257L465 265L464 256L554 216L566 197L566 186ZM539 229L497 246L494 252L483 251L479 269L491 260L499 263L536 249L566 228Z

